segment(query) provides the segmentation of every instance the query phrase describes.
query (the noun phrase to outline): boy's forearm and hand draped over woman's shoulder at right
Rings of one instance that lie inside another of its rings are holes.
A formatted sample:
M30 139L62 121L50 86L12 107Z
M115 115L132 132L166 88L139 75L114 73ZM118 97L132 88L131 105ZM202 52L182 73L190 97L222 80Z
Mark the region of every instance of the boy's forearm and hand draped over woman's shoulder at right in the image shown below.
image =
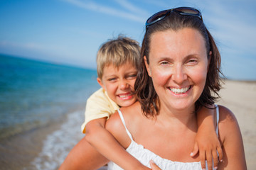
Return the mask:
M214 111L214 109L202 107L197 113L198 132L191 157L195 156L199 149L202 169L206 169L206 160L208 169L213 169L218 167L218 159L220 162L223 159L223 151L213 123Z

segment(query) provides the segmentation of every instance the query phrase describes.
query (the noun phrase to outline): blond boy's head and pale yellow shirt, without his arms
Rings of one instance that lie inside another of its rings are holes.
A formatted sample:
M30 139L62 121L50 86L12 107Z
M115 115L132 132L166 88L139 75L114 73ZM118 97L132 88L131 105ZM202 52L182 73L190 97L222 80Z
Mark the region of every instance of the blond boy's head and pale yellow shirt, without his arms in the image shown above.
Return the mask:
M134 83L139 64L139 43L119 37L105 42L97 52L97 82L102 89L87 100L85 125L98 118L110 118L120 106L130 106L136 101Z

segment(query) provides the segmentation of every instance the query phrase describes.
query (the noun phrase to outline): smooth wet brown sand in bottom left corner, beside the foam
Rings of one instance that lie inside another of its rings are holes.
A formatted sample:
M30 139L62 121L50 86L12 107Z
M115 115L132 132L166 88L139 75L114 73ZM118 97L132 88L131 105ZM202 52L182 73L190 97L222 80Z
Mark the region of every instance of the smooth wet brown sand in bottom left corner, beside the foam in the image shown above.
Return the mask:
M33 169L31 162L41 152L43 141L63 121L8 137L0 142L0 169ZM40 135L39 135L40 134Z

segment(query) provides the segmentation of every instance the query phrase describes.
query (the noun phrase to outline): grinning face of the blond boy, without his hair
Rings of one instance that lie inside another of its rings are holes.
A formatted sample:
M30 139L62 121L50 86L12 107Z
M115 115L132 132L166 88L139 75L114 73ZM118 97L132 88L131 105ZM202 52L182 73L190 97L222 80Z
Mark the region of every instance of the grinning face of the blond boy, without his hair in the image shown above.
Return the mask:
M130 106L137 100L133 94L136 77L137 69L127 62L118 68L113 64L105 66L102 79L97 78L97 81L112 101L123 107Z

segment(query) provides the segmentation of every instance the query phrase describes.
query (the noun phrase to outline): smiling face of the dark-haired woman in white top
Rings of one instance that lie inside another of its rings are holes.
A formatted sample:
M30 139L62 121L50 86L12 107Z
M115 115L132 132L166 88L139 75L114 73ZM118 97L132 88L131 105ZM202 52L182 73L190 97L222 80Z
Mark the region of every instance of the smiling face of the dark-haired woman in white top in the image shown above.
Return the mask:
M146 62L146 57L144 57ZM203 36L193 28L151 35L149 64L161 108L194 109L206 84L208 58Z

